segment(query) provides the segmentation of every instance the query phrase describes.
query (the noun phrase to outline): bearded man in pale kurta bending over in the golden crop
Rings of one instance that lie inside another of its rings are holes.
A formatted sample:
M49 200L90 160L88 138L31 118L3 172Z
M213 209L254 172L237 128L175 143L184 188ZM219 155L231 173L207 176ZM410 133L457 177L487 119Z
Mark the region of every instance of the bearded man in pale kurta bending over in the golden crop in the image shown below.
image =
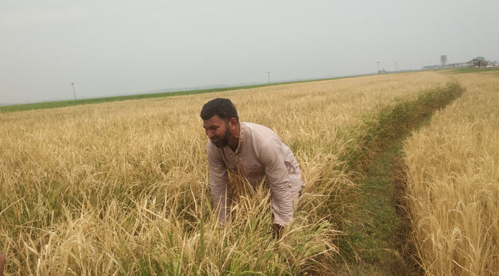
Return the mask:
M218 219L230 219L231 191L227 170L239 171L251 184L265 176L272 194L274 226L279 230L293 219L293 203L305 184L293 152L271 129L239 122L229 99L212 99L201 110L203 127L210 140L207 157L210 188Z

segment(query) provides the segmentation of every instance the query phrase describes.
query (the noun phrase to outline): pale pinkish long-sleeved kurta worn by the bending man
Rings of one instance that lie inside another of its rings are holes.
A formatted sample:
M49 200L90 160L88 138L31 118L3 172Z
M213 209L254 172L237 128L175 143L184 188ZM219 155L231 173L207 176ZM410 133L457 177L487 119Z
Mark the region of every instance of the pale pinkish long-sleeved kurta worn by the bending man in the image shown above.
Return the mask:
M207 144L210 165L210 188L218 219L229 219L231 193L227 169L239 170L251 184L258 184L267 175L272 193L274 224L287 226L293 219L293 201L305 184L293 152L276 133L265 126L240 123L239 144L235 151L229 146L217 148Z

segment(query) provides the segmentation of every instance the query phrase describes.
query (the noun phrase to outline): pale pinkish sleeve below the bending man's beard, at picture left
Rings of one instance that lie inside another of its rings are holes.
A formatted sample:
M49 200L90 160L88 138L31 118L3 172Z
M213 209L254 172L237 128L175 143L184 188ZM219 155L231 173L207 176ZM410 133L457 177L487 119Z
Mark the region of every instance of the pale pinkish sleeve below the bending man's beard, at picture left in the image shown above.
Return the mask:
M208 142L206 148L208 164L210 166L210 190L218 220L222 223L229 221L230 206L232 202L230 188L228 187L227 167L222 158L222 152Z

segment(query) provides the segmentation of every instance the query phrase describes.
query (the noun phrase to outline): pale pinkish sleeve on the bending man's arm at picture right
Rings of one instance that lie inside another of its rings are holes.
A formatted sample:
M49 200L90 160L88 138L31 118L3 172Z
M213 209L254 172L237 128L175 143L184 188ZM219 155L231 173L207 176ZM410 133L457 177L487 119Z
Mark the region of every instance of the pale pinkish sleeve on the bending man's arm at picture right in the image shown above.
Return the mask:
M281 153L281 141L268 140L261 148L260 159L270 183L274 224L287 226L293 219L293 199L291 179Z

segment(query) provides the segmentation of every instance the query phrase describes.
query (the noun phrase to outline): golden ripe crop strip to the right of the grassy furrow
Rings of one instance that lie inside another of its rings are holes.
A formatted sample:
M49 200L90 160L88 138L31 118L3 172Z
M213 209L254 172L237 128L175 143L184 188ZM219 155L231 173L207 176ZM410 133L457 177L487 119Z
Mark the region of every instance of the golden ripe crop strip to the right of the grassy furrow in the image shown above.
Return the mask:
M498 275L499 74L453 77L464 95L405 147L411 238L427 275Z

